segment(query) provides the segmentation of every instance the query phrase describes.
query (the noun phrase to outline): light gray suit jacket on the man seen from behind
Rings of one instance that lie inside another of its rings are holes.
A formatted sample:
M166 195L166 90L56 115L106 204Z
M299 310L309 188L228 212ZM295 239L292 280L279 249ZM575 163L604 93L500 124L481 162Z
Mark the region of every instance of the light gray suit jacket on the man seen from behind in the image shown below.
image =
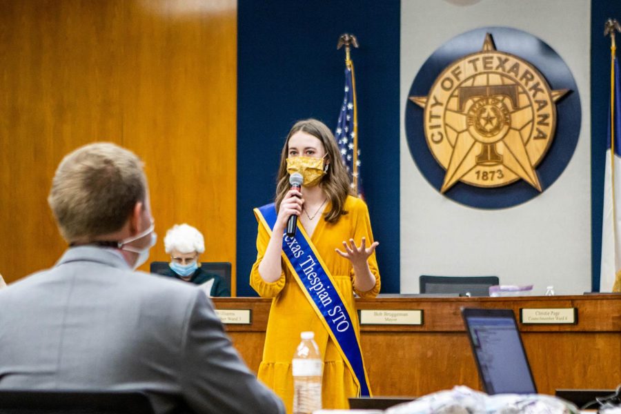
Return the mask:
M284 413L199 288L92 246L0 290L0 388L140 389L157 413Z

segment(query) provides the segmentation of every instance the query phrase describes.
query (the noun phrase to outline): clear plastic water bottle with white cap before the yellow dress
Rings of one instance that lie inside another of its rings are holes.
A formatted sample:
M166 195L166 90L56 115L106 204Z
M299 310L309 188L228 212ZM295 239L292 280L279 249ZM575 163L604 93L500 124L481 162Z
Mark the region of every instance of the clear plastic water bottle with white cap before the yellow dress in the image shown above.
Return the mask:
M313 338L302 332L293 355L293 414L311 414L322 408L322 355Z

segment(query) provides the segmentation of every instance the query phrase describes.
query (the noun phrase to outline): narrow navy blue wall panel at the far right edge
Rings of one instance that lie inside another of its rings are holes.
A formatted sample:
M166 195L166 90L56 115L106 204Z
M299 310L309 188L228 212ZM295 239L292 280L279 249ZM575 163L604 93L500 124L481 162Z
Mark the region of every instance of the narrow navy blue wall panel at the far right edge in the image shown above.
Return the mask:
M602 258L602 208L607 119L610 102L610 38L604 37L604 23L621 21L621 1L591 2L591 254L593 290L600 288ZM617 35L621 46L621 35ZM619 57L619 52L617 52Z

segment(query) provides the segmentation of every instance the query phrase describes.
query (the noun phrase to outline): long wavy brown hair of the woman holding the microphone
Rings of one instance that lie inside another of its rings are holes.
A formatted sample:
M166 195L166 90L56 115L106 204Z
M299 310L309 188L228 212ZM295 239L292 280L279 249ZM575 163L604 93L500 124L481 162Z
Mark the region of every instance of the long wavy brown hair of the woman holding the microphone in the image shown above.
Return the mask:
M317 121L317 119L297 121L287 135L280 155L280 166L278 167L275 199L276 210L279 210L282 199L284 199L284 196L290 189L289 174L287 172L289 139L295 132L299 131L313 135L313 137L322 141L324 149L326 150L325 162L329 165L326 174L322 177L322 180L319 181L319 186L322 187L322 190L324 190L324 193L328 196L328 201L331 203L331 208L328 213L326 213L324 219L329 223L334 223L341 215L347 214L344 209L345 200L348 195L353 195L353 190L332 131L322 121Z

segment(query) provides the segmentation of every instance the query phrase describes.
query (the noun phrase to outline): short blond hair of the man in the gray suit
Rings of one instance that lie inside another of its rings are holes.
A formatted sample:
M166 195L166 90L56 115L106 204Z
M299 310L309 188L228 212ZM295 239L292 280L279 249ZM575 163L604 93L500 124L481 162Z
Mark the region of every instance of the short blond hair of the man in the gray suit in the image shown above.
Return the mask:
M145 196L140 159L130 150L99 142L63 158L48 203L61 235L74 242L120 230Z

